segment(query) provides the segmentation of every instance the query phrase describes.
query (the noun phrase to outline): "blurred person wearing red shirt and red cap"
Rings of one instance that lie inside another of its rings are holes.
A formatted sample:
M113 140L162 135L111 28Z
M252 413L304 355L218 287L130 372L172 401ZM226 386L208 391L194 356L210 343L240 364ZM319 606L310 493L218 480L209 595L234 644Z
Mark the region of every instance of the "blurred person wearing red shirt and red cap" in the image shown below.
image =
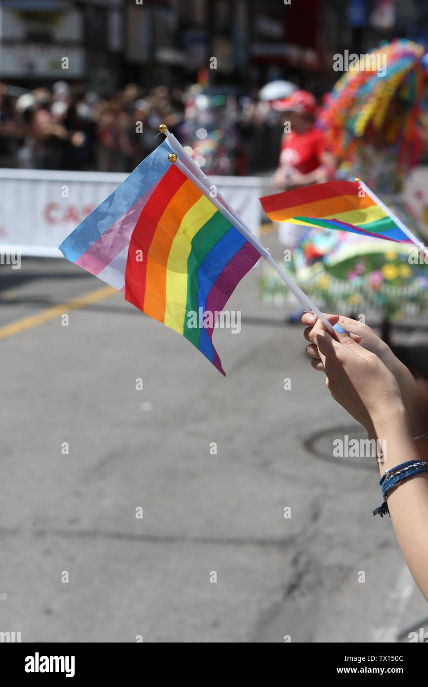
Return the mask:
M335 160L326 150L324 133L315 128L318 104L312 93L294 91L289 98L275 100L271 105L282 112L284 127L273 185L289 190L332 179Z

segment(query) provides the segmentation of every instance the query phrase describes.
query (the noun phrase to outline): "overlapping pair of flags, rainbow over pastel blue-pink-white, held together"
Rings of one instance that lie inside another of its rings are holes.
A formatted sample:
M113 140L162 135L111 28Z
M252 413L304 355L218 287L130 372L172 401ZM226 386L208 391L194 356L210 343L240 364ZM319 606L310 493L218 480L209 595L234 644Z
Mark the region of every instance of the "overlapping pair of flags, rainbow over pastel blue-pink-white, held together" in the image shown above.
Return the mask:
M164 142L148 155L60 251L183 335L225 374L214 327L260 253L168 161L170 152Z

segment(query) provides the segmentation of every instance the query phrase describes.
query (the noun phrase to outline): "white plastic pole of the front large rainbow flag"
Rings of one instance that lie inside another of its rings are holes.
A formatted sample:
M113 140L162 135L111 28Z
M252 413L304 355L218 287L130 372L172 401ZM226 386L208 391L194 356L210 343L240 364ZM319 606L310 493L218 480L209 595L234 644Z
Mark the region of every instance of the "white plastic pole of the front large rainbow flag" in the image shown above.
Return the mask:
M315 303L313 303L311 301L311 299L308 297L308 295L306 295L306 293L304 293L304 291L302 291L302 289L300 289L300 286L297 286L295 281L293 281L293 279L291 279L291 277L289 277L289 275L286 274L286 272L280 268L280 266L277 264L277 262L275 262L275 260L273 260L269 251L266 248L264 248L264 246L262 246L262 244L257 240L256 236L254 236L254 234L251 234L251 232L249 232L248 229L245 229L240 218L238 216L232 215L232 213L229 212L229 210L227 210L227 208L224 205L222 205L222 203L216 197L213 197L210 194L210 190L207 188L207 185L205 183L203 183L203 181L201 179L198 179L181 162L177 153L170 153L170 155L168 155L168 159L170 160L170 162L174 163L175 166L177 166L181 172L183 172L185 177L188 177L188 179L190 179L190 181L192 181L192 183L194 183L194 185L197 188L199 188L199 190L203 193L203 195L217 208L217 210L219 210L221 212L221 214L223 214L223 216L225 216L225 218L231 223L231 225L236 227L236 229L238 229L238 232L240 232L240 234L243 234L243 236L245 236L248 243L251 243L251 245L256 249L256 251L258 251L260 253L262 258L264 258L264 260L266 260L267 262L269 262L269 264L271 264L273 269L275 269L275 271L278 272L278 274L280 275L282 280L284 280L286 285L289 286L289 289L294 293L295 297L297 298L297 300L300 303L300 305L302 306L302 308L304 308L304 310L306 310L306 311L315 313L315 315L317 315L317 317L319 319L321 319L322 322L326 325L330 334L334 335L333 325L330 324L330 322L328 322L328 319L325 317L325 315L323 315L323 313L319 310L319 308L317 308Z

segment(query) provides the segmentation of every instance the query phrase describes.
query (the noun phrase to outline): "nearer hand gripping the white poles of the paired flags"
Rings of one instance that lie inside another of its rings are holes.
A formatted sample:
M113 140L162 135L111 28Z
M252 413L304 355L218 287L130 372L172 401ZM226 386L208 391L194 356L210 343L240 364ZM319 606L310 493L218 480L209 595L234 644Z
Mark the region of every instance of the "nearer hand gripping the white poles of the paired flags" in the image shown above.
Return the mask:
M321 320L309 339L324 365L330 394L369 433L389 416L405 413L398 383L376 354L346 333L333 339Z

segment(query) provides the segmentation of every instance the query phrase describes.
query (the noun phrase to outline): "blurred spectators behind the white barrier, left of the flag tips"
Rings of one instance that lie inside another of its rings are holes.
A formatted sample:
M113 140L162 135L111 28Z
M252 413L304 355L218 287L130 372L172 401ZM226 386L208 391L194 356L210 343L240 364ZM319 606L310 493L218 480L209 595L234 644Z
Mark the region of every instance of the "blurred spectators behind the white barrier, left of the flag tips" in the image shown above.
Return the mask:
M159 122L181 120L181 91L165 87L142 98L129 84L114 98L56 82L16 96L2 87L2 166L38 169L131 171L153 149ZM137 122L142 122L137 126ZM137 133L138 132L138 133Z

